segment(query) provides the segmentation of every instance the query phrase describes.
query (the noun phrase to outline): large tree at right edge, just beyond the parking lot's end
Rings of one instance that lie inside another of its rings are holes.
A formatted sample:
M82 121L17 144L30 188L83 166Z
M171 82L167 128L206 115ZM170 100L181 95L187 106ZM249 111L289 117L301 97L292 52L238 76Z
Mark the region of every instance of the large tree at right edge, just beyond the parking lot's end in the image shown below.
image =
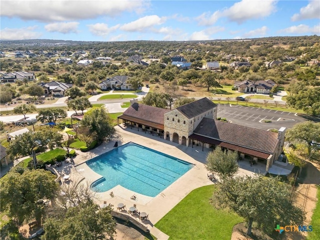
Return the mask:
M320 115L320 87L300 90L297 94L287 96L286 101L295 109L302 109L312 115Z

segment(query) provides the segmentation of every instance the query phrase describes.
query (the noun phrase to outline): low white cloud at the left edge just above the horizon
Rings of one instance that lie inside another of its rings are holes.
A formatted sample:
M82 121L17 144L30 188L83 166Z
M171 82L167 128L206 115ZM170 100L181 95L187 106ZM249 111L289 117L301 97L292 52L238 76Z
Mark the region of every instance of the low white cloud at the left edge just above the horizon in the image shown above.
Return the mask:
M7 28L0 30L1 40L24 40L36 39L42 36L41 32L33 31L37 26L28 26L22 28Z

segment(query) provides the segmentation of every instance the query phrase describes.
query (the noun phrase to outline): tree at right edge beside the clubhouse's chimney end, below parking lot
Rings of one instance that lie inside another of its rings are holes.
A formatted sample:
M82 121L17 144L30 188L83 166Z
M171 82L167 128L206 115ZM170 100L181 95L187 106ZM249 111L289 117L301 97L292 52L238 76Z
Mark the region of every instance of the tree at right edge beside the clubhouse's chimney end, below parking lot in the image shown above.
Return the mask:
M320 143L320 122L305 121L295 124L287 130L285 137L293 145L295 143L304 143L308 149L308 157L318 150Z

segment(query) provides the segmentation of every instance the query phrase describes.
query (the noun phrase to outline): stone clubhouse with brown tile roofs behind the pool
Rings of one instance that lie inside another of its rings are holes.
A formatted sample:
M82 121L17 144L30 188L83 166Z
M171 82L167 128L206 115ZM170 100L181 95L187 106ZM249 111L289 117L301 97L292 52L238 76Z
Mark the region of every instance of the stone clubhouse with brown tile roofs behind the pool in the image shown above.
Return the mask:
M174 109L139 104L135 100L118 116L128 126L156 133L184 146L221 146L235 150L239 156L272 166L282 151L285 127L278 132L261 130L216 120L217 105L204 97Z

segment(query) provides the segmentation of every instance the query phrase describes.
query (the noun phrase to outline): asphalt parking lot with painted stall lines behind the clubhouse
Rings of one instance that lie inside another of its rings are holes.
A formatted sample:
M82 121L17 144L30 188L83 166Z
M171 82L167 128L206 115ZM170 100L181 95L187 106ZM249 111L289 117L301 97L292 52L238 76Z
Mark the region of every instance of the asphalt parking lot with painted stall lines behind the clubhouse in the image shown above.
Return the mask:
M217 117L226 118L235 124L260 129L279 129L281 126L290 128L305 120L294 112L230 104L218 104Z

